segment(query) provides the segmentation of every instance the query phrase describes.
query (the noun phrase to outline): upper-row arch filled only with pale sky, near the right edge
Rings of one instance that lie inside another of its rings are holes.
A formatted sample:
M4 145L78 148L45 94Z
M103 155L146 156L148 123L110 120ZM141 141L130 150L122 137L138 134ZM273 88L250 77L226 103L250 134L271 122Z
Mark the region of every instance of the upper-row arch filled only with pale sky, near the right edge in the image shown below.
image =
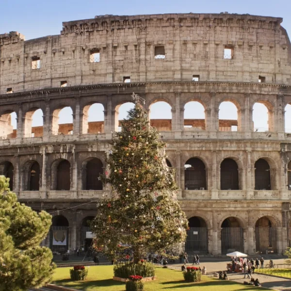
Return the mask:
M253 123L255 132L269 131L269 111L263 103L257 102L254 104Z

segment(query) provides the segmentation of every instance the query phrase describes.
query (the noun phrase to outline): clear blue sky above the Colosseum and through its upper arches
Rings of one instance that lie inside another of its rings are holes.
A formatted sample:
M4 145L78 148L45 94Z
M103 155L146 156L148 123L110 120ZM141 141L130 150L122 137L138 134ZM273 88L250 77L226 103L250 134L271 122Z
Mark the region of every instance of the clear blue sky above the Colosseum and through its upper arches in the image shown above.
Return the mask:
M59 34L63 21L94 18L96 15L220 13L226 11L228 13L283 17L282 26L287 29L289 35L291 34L291 0L1 0L0 9L0 33L17 31L24 34L26 39ZM260 105L258 106L262 107ZM124 107L127 108L127 106ZM161 113L165 113L164 118L171 118L170 112L161 110L161 108L161 105L158 104L152 107L152 117L157 116L156 118L158 118ZM232 108L234 109L232 110ZM92 115L101 117L102 114L96 114L97 111L96 108L96 112ZM196 118L203 118L203 116L200 117L201 113L195 104L187 111L186 118L193 118L193 113ZM291 106L288 112L290 118L287 121L287 128L291 131ZM120 109L120 113L121 118L126 115L122 109ZM230 116L229 113L232 113L233 116ZM259 108L258 115L256 115L262 116L262 113L265 113L265 109ZM228 104L225 109L220 108L220 118L236 119L236 116L236 110L232 104ZM34 126L41 125L40 119L41 114L35 118ZM71 122L70 119L69 111L65 111L63 116L60 115L61 123ZM93 120L95 119L89 116L89 121ZM255 118L255 123L255 127L262 130L267 126L266 119L262 117Z

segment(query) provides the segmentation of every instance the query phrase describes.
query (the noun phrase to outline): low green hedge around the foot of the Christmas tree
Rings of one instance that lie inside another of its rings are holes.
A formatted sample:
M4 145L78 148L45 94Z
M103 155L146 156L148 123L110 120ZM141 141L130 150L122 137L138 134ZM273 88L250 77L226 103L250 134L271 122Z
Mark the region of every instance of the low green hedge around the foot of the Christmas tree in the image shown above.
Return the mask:
M138 262L134 264L132 262L118 263L113 267L113 273L115 277L129 278L130 275L136 274L142 277L152 277L155 275L155 266L149 262Z

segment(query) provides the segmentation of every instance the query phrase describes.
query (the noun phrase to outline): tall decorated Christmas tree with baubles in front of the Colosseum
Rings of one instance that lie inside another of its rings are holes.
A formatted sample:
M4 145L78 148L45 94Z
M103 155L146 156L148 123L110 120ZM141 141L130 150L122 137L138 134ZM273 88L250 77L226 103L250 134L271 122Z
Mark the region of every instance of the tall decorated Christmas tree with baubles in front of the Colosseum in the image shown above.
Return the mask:
M165 143L149 125L141 98L113 137L102 177L110 197L97 204L91 227L95 247L112 259L127 252L134 262L184 242L188 222L176 197L175 173L166 164Z

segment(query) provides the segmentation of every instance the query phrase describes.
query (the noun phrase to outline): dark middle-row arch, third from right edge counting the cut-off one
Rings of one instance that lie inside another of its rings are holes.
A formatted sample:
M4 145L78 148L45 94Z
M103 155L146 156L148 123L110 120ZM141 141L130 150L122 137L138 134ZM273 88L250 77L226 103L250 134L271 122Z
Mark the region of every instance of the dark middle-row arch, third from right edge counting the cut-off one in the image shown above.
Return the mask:
M238 164L232 159L224 159L220 165L220 189L240 189Z

